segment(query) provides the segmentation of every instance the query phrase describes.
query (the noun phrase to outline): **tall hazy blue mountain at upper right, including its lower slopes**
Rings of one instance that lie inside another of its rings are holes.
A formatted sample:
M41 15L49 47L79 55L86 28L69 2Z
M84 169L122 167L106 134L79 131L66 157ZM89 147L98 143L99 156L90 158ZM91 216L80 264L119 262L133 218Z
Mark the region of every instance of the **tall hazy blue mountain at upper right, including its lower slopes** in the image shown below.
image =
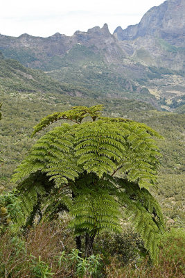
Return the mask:
M184 14L185 0L168 0L148 10L139 24L125 30L118 26L114 35L127 55L150 65L184 71Z

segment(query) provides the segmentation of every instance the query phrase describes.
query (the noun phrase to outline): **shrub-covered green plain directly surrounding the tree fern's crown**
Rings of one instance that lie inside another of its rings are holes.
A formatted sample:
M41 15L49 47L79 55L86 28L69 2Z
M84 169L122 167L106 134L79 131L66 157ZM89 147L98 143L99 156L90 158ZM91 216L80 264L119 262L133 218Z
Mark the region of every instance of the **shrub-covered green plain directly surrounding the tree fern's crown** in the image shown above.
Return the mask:
M33 126L56 111L66 111L71 106L104 104L104 115L126 117L144 122L159 131L164 140L158 144L163 154L159 170L158 188L154 194L161 202L167 220L176 226L184 223L182 186L184 183L184 115L150 110L150 106L133 100L68 97L59 94L29 94L16 92L1 94L1 174L0 183L12 187L10 176L15 167L28 154L35 138L30 138ZM143 106L142 106L143 105Z

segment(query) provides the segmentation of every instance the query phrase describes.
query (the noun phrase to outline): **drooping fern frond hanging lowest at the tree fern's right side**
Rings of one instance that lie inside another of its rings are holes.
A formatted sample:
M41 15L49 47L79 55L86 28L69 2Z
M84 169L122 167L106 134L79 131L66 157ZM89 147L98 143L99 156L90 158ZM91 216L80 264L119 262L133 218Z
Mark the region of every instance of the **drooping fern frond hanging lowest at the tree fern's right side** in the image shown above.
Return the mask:
M116 179L122 190L118 199L126 207L127 215L134 223L136 231L141 234L151 258L156 261L159 253L159 240L164 231L164 218L161 208L146 188L124 179Z

